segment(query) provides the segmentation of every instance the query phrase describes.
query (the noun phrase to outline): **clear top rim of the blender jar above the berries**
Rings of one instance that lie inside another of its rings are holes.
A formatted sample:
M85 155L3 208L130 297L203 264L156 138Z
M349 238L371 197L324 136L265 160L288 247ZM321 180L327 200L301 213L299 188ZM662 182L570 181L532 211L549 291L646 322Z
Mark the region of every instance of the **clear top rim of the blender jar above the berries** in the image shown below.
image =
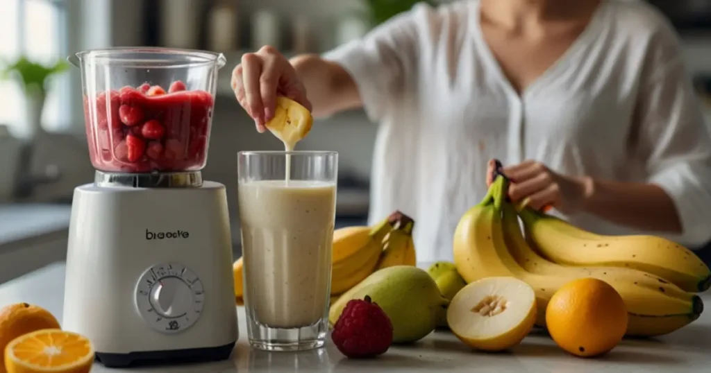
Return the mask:
M67 60L80 67L83 61L90 60L100 65L126 67L196 67L215 65L218 69L225 66L227 59L222 53L208 50L162 48L162 47L116 47L83 50L70 55Z

